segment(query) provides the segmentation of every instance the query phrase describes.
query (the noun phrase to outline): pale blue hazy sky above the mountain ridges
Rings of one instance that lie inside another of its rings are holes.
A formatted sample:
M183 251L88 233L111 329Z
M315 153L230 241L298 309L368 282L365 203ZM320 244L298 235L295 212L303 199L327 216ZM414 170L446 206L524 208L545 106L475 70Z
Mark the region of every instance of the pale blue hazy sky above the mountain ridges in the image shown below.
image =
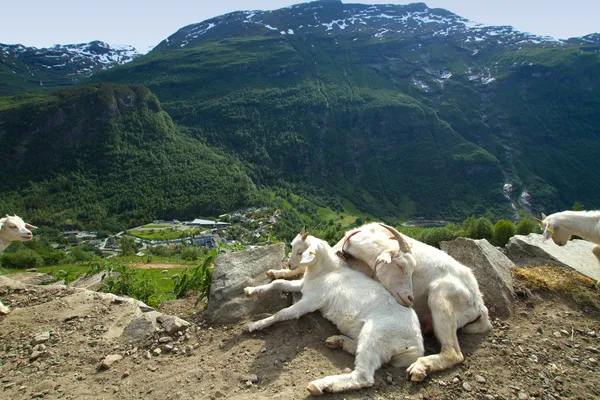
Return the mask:
M49 47L102 40L146 53L186 25L239 10L275 10L302 0L27 0L4 1L0 43ZM416 1L343 0L408 4ZM512 25L564 39L600 32L599 0L423 0L485 25Z

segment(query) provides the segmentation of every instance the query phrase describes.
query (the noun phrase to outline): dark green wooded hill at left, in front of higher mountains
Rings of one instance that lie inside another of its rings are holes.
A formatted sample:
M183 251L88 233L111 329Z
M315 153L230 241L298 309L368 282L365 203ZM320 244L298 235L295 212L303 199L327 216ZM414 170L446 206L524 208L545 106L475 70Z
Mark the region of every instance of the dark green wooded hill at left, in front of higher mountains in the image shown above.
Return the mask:
M54 225L116 229L251 201L241 164L179 132L136 85L98 84L0 103L0 208Z

